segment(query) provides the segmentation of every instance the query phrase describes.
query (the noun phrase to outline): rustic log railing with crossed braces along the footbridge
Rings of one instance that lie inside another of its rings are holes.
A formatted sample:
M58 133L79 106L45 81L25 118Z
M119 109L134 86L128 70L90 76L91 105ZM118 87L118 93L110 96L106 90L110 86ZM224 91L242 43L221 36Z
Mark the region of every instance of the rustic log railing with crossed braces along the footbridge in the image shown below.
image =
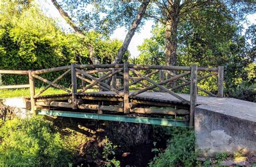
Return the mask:
M62 75L58 76L55 80L49 81L48 79L39 76L49 72L63 71ZM173 71L176 71L175 73ZM178 72L181 72L180 74ZM198 71L208 71L210 74L198 77ZM64 88L64 86L57 84L60 79L71 73L71 90ZM183 103L190 105L190 125L194 124L194 110L197 104L197 90L203 91L212 97L223 97L223 79L224 68L202 68L197 65L190 67L182 66L153 66L153 65L138 65L138 64L75 64L71 63L70 66L63 66L42 70L0 70L0 74L16 74L28 75L29 84L25 85L6 85L0 86L0 89L16 89L16 88L30 88L30 102L31 111L36 113L36 99L42 95L43 92L48 90L51 86L61 89L70 94L72 97L72 108L77 108L77 93L83 93L93 88L98 91L112 91L123 98L123 112L130 113L132 103L130 99L140 93L146 91L160 91L169 93L171 96L176 97ZM165 74L171 76L165 79ZM218 95L207 91L197 86L197 83L208 77L217 75L218 78ZM186 78L184 78L186 77ZM39 81L47 83L39 92L35 92L35 78ZM80 79L80 83L78 83ZM105 81L111 79L112 84L109 85ZM120 81L121 80L121 81ZM118 82L119 81L119 82ZM177 81L183 82L178 85L173 85L172 88L166 88L164 85ZM118 85L119 83L119 85ZM120 85L120 83L122 83ZM79 86L80 85L80 86ZM140 85L140 86L138 86ZM181 97L179 94L173 92L190 85L190 100ZM139 87L139 88L138 88ZM133 91L136 90L136 91ZM39 103L39 102L38 102ZM53 103L53 102L52 102ZM117 109L119 111L119 109ZM134 109L135 110L135 109ZM136 109L137 110L137 109ZM147 110L145 109L145 112ZM131 112L134 112L131 110ZM138 111L139 112L139 111ZM148 113L152 111L147 111ZM167 111L165 111L167 112Z

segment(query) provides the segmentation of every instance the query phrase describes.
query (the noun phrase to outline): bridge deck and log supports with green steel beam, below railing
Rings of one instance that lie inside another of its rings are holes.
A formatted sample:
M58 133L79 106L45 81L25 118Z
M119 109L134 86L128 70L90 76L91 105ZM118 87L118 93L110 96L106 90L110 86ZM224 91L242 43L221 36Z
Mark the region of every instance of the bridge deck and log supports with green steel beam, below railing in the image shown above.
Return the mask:
M134 92L130 92L130 95L132 93ZM190 95L178 95L190 100ZM137 96L130 96L129 114L123 112L123 95L115 92L76 93L76 96L75 109L71 94L40 96L36 99L38 114L189 127L190 104L166 92L144 92ZM218 99L198 96L197 105L210 104ZM169 116L168 119L166 116Z

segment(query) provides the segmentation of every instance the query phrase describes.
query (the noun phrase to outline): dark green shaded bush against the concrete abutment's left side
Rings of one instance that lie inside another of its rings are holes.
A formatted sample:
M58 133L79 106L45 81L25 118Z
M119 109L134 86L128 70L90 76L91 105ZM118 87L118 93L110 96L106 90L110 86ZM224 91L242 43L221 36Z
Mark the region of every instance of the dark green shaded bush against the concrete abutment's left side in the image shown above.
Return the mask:
M193 130L175 129L165 152L154 157L149 166L193 166L197 156L194 142Z

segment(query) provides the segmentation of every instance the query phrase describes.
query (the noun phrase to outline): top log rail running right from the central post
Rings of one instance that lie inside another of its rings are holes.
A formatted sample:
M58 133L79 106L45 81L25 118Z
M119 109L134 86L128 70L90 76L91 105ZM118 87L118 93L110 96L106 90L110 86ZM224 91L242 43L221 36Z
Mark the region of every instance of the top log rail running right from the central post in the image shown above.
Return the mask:
M190 71L190 67L184 67L184 66L160 66L160 65L129 64L129 68ZM200 70L200 71L218 71L218 68L200 67L200 68L198 68L198 70Z

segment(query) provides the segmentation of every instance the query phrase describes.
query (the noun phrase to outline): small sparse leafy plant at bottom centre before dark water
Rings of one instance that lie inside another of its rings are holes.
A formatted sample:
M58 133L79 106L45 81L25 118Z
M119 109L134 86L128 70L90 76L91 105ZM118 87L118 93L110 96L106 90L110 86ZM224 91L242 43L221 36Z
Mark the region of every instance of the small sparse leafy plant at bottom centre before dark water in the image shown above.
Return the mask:
M116 160L115 157L112 159L109 159L109 156L113 156L116 153L114 153L114 149L116 149L117 146L113 146L113 143L107 139L105 136L104 140L104 148L103 148L103 158L105 158L106 166L112 166L110 163L112 163L114 166L118 167L120 166L120 162Z

